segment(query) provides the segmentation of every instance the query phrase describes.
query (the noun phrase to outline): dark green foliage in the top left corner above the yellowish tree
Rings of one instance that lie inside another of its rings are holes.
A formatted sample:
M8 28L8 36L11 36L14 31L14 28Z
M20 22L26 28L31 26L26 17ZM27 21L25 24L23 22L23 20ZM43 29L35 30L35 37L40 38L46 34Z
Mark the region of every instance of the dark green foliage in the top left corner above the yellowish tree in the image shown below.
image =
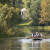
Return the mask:
M8 6L13 6L17 8L22 8L22 0L0 0L1 4L8 4Z

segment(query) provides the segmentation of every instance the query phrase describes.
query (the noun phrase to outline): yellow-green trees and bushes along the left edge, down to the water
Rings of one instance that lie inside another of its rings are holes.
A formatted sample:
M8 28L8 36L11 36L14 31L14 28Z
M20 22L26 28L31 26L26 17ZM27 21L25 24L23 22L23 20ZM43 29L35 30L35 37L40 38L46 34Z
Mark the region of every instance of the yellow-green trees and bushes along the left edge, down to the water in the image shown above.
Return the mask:
M13 35L13 26L21 22L20 9L0 4L0 33Z

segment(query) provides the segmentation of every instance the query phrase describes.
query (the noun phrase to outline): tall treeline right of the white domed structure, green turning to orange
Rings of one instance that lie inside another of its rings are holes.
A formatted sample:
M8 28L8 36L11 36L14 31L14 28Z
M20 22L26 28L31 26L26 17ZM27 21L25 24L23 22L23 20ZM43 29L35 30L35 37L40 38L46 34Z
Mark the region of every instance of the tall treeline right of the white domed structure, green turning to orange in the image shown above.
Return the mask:
M26 2L25 2L26 1ZM31 25L50 25L50 1L49 0L23 0L24 7L28 9L28 16L32 18Z

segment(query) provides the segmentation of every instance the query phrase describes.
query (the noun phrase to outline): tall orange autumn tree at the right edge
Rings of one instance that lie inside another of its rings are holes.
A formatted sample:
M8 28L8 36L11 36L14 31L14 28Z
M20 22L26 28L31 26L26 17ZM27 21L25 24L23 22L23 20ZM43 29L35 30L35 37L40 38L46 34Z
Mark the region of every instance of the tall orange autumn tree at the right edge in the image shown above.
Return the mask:
M50 20L50 16L49 16L49 4L50 3L50 1L48 1L48 0L42 0L42 3L41 3L41 13L40 13L40 15L41 15L41 17L40 17L40 22L39 22L39 24L45 24L45 25L48 25L48 22L49 22L49 20Z

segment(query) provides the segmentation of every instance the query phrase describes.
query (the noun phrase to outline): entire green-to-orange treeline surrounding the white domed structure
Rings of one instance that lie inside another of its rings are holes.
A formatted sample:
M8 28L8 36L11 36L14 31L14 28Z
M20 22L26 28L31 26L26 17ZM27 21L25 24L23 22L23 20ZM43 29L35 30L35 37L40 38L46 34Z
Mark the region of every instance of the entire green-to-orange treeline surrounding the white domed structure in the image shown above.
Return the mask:
M31 18L33 26L50 25L49 0L0 0L0 33L13 35L14 26L22 21L21 9L27 8L27 18ZM27 19L26 19L27 20Z

